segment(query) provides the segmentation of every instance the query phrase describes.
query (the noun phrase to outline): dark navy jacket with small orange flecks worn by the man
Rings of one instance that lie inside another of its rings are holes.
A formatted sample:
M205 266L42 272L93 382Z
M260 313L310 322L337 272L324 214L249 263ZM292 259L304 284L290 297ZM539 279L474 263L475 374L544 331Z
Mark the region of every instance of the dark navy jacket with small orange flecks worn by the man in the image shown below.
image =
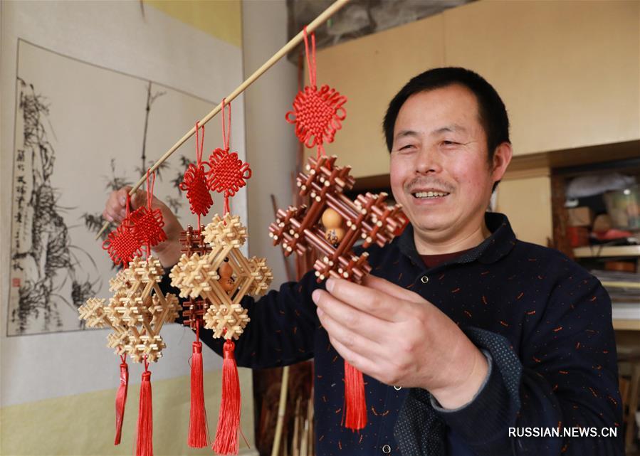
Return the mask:
M487 213L486 223L489 238L431 269L416 252L411 226L390 245L367 249L372 274L439 307L488 356L487 381L458 410L439 408L428 391L364 376L367 427L360 433L342 428L343 361L311 300L313 290L324 285L309 272L257 301L243 300L251 322L236 341L239 366L314 359L318 455L446 455L451 432L464 442L463 452L479 456L624 454L607 292L557 250L517 240L502 214ZM209 334L203 332L202 341L221 354L221 341ZM618 436L536 438L508 432L558 426L593 427L597 433L617 428Z

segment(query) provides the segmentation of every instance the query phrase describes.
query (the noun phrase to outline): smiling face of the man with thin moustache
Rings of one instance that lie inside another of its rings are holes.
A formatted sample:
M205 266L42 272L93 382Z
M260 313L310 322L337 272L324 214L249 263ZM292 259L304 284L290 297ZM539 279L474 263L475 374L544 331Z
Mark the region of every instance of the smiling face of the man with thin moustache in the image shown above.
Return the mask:
M445 243L483 226L500 168L488 161L478 102L467 88L419 92L400 108L391 186L421 238Z

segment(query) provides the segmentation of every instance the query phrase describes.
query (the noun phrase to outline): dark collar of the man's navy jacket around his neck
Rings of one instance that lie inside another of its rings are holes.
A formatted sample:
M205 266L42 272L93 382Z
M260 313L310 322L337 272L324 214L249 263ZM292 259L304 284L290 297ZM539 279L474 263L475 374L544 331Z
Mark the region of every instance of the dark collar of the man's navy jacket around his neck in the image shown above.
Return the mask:
M511 229L507 216L497 212L485 213L485 222L491 235L475 248L467 250L462 255L453 258L450 263L471 263L478 260L483 264L491 264L507 255L515 245L515 233ZM397 238L397 245L401 253L409 257L415 265L424 265L414 242L414 227L411 223Z

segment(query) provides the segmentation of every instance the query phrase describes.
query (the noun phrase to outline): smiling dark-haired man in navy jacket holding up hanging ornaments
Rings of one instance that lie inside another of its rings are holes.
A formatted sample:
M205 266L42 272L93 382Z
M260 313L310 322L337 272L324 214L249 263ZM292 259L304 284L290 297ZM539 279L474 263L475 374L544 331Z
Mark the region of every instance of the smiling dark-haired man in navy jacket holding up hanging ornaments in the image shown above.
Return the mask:
M392 191L411 223L367 249L363 285L330 279L325 288L309 272L245 299L251 324L238 365L313 357L321 456L623 454L621 432L604 432L621 423L607 293L486 212L512 154L493 87L463 68L426 71L389 104L384 134ZM105 217L121 218L123 195L111 196ZM166 266L177 261L174 231L157 252ZM365 375L360 433L340 425L342 358Z

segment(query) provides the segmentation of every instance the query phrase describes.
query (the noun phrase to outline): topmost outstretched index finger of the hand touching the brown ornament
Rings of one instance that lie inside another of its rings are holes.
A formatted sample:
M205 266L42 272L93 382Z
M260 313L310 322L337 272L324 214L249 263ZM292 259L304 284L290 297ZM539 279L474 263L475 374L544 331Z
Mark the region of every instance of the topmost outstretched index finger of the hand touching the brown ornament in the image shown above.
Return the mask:
M399 299L397 297L334 277L327 280L326 288L327 292L330 292L335 298L362 312L387 320L387 322L398 320L396 312Z

